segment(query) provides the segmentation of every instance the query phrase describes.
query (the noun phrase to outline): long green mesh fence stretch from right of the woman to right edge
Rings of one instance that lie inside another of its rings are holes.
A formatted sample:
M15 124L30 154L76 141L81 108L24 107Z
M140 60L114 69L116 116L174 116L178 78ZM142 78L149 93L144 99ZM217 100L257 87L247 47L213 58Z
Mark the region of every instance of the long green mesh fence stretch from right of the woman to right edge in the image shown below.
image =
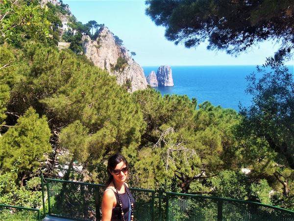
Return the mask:
M236 199L167 194L167 221L294 221L294 212Z

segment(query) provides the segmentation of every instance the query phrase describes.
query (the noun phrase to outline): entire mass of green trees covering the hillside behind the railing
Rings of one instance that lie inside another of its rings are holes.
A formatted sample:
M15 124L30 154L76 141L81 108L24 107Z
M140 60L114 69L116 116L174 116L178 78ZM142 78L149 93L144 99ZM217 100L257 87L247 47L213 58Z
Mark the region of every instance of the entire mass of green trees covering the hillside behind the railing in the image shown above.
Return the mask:
M151 88L130 94L78 44L57 49L54 10L0 6L0 203L40 205L41 173L104 183L107 158L122 152L131 186L294 209L294 85L281 61L248 79L253 105L240 113Z

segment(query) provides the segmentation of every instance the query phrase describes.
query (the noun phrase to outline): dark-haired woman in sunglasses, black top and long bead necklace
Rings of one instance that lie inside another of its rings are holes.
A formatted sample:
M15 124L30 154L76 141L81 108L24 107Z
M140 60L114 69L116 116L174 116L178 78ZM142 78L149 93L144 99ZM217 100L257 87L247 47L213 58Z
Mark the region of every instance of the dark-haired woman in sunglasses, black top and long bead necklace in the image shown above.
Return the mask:
M133 221L134 203L132 193L125 183L128 164L121 154L108 159L109 179L102 197L102 221Z

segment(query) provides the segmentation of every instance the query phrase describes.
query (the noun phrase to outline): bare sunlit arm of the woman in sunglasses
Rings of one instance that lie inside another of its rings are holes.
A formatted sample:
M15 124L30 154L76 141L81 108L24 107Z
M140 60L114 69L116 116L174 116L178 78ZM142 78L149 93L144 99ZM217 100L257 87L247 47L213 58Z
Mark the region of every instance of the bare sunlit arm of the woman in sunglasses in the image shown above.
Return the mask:
M115 195L112 190L106 190L102 197L102 221L110 221Z

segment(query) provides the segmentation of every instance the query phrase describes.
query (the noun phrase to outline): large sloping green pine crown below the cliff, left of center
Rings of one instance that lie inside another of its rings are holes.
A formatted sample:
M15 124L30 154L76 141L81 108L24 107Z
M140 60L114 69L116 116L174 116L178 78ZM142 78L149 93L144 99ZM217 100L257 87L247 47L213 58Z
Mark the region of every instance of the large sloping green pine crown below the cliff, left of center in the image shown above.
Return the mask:
M86 144L91 169L117 151L135 160L145 123L138 105L114 77L69 50L30 42L24 52L25 80L13 87L11 110L22 113L32 106L54 119L50 128L78 120L91 134ZM61 146L70 148L69 140L62 140Z

